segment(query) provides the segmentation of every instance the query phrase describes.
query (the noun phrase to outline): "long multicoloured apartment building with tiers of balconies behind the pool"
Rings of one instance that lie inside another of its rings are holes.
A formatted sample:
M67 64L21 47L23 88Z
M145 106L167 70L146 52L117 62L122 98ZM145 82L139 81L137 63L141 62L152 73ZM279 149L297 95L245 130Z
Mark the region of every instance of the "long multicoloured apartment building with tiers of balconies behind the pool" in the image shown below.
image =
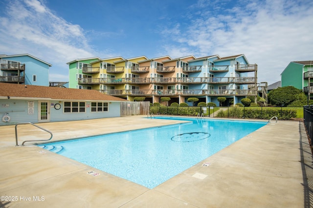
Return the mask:
M69 64L69 87L93 89L130 101L144 96L151 103L167 96L172 102L214 102L226 97L226 105L236 104L250 95L257 96L257 65L245 55L196 58L169 56L148 59L145 56L125 59L87 58ZM188 103L192 105L192 103Z

